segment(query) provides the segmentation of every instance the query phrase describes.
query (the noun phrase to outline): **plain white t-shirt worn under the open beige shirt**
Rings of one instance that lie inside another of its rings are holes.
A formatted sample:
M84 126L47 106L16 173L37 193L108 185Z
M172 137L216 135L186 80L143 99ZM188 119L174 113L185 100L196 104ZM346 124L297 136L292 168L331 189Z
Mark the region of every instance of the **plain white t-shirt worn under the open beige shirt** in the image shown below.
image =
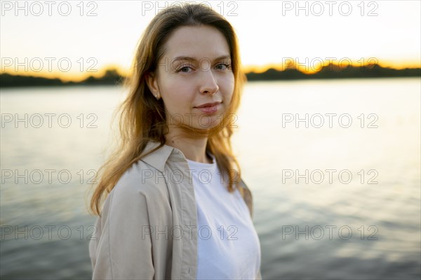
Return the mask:
M255 279L260 241L250 212L239 190L228 192L210 157L212 164L187 160L198 218L196 279Z

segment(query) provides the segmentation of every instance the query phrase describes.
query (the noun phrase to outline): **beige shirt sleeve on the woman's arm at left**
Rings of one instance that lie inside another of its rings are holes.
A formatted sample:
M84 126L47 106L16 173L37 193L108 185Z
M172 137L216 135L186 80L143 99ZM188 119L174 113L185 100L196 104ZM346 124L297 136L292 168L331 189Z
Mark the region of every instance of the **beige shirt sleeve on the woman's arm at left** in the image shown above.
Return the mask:
M117 183L105 201L89 244L92 279L153 279L152 240L148 232L145 195Z

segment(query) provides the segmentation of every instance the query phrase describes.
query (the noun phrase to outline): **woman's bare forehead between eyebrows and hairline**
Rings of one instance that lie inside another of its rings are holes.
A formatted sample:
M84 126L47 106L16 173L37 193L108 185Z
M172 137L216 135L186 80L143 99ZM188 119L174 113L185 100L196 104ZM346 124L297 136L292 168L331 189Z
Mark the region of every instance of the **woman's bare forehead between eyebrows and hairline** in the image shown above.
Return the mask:
M175 29L166 42L163 56L169 59L180 56L213 59L229 54L225 36L215 27L201 25Z

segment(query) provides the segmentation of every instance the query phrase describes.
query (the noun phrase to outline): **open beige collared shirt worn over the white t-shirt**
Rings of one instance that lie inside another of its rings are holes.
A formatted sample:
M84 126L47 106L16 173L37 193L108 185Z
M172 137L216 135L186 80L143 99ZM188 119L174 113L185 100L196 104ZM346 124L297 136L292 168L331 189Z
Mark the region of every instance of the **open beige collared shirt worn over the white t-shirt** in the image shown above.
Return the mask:
M149 142L145 151L156 146ZM93 279L195 279L198 229L188 170L185 155L164 145L121 176L89 242ZM253 217L252 194L240 186Z

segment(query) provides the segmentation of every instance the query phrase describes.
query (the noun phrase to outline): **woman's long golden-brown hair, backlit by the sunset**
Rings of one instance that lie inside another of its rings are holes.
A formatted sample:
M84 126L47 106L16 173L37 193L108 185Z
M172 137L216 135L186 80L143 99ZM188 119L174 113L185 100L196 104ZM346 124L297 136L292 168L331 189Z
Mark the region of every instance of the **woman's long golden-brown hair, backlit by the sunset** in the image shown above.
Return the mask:
M166 143L168 133L166 113L162 99L156 100L147 86L145 76L156 71L159 59L163 56L168 37L178 27L208 25L218 29L229 45L234 73L234 93L231 104L227 108L218 128L210 130L185 127L196 134L207 134L206 151L215 155L215 160L223 174L229 176L228 191L232 193L234 186L241 180L241 169L231 146L233 133L232 122L229 121L239 107L243 84L246 76L241 71L239 44L232 25L225 18L208 6L202 4L184 4L171 6L161 10L149 23L138 44L133 61L131 75L125 80L128 96L117 108L119 118L119 145L114 153L100 167L95 176L98 185L91 197L89 210L92 214L101 215L100 205L114 188L127 169L145 155L156 151ZM142 155L148 141L160 143L154 150ZM234 168L235 167L235 168Z

